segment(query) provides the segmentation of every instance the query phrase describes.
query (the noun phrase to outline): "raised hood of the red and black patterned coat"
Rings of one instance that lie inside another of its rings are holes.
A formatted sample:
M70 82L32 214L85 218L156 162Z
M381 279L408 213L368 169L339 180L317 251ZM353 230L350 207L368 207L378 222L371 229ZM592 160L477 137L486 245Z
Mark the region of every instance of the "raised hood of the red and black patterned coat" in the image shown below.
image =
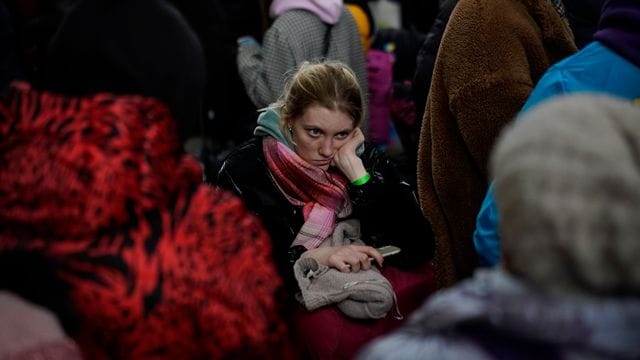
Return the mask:
M141 96L14 83L0 99L0 148L5 240L91 237L167 207L202 179L168 108Z

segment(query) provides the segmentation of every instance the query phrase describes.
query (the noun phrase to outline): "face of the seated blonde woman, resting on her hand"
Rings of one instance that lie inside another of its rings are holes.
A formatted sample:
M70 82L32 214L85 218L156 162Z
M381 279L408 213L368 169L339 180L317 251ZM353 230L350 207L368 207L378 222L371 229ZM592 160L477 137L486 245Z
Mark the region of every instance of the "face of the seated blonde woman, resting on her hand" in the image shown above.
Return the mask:
M290 126L298 156L323 170L329 168L333 155L355 129L349 115L320 105L309 106Z

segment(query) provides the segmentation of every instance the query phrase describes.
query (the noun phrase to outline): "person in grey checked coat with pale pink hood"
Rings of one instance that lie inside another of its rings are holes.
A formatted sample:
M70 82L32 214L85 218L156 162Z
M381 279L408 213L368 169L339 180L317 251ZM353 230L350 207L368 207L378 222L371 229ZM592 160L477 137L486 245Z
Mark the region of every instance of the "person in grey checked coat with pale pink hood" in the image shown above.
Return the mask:
M249 98L262 108L278 100L288 73L305 60L341 61L356 74L367 94L364 50L355 20L342 0L274 0L275 19L262 45L251 37L238 39L238 72ZM365 122L367 134L366 98Z

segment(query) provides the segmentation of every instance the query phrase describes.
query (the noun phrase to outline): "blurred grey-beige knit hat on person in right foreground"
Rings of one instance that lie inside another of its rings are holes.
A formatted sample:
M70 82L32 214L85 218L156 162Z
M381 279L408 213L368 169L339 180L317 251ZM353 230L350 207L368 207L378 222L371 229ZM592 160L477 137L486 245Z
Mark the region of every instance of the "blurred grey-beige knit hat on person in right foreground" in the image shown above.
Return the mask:
M640 107L554 98L491 158L505 267L547 289L640 294Z

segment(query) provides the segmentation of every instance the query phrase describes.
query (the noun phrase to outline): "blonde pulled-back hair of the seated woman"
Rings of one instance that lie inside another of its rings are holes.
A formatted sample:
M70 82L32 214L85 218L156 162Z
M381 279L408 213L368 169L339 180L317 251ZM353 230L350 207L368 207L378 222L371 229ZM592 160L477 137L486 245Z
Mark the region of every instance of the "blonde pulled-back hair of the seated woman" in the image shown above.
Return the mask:
M275 105L280 108L280 130L289 140L289 122L304 115L312 105L344 112L354 127L364 118L358 80L347 65L338 61L300 64Z

